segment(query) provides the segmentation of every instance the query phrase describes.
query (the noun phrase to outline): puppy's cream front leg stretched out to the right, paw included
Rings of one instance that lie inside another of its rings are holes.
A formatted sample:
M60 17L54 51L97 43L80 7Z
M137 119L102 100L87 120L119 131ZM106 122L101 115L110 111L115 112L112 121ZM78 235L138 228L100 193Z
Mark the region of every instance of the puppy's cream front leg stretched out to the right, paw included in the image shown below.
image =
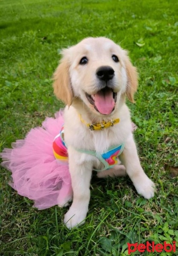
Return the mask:
M138 194L146 199L152 198L155 192L155 184L147 177L141 167L132 134L126 141L123 153L121 154L121 161L126 167L126 173L132 180Z

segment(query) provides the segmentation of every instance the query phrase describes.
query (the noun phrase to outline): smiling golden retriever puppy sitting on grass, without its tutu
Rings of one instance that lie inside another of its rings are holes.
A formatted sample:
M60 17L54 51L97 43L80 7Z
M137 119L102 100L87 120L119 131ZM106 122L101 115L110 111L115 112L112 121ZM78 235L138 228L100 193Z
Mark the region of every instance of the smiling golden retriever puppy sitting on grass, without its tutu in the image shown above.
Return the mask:
M141 167L125 104L134 102L137 71L127 52L108 38L86 38L62 50L54 73L54 92L66 103L64 140L69 154L73 195L64 223L70 229L83 224L88 212L92 170L98 177L126 173L138 194L154 196L154 183ZM119 165L119 156L123 165Z

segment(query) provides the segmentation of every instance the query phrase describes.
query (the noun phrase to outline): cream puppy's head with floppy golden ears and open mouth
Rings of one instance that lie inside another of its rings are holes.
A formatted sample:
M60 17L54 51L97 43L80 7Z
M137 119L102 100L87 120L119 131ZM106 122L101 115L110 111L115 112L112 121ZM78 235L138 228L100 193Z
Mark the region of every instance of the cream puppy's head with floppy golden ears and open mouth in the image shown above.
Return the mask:
M111 115L126 94L134 102L137 71L127 52L107 38L86 38L63 49L54 92L66 105L80 99L93 112Z

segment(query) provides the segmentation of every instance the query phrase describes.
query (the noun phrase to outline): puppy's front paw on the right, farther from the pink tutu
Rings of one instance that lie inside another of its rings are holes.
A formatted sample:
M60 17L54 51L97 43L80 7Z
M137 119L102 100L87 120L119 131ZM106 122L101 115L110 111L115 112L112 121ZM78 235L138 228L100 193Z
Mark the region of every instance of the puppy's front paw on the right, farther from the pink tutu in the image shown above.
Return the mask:
M138 177L133 183L138 194L142 195L144 198L149 199L154 196L155 184L146 176L146 174L144 174L143 177Z

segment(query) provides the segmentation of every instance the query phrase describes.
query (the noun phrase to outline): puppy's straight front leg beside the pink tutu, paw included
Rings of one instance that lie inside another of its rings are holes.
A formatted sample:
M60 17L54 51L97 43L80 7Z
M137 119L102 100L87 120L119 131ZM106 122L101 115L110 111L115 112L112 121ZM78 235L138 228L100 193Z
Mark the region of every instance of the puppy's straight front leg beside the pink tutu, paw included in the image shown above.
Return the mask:
M90 199L90 180L92 177L92 162L80 160L81 154L68 149L69 171L72 180L73 202L65 214L64 223L71 229L85 222Z

